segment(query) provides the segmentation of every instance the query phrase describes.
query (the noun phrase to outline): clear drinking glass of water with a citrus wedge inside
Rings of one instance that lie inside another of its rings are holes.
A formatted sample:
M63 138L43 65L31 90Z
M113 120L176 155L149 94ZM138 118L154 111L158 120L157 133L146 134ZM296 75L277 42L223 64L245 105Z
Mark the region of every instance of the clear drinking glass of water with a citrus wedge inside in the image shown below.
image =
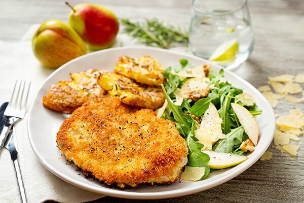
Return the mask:
M193 0L191 51L226 69L235 69L253 50L247 0Z

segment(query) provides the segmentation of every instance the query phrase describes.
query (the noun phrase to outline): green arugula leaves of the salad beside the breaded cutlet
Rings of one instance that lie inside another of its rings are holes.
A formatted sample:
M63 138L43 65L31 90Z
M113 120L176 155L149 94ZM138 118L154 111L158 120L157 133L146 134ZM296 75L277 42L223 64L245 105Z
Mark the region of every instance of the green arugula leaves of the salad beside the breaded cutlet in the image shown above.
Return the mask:
M223 70L219 72L210 71L208 76L210 80L208 82L210 92L207 97L201 98L196 102L183 98L181 105L175 105L176 96L174 92L185 81L189 80L189 78L180 78L176 73L192 69L193 67L186 59L181 59L180 66L175 67L174 70L172 70L172 67L168 67L164 71L166 82L165 86L162 85L162 88L168 105L162 117L174 121L181 136L185 138L189 150L187 166L205 168L205 174L201 178L203 180L211 171L208 166L210 157L201 151L204 145L199 143L199 140L195 136L195 130L200 123L193 117L202 118L210 103L212 103L222 119L221 129L225 135L224 138L219 139L212 146L212 151L242 155L244 151L239 147L243 141L248 139L248 136L232 109L231 103L238 103L244 106L253 116L261 114L262 111L258 109L255 103L247 106L242 103L241 99L236 97L243 93L243 90L232 86L229 82L222 81ZM194 116L191 116L191 114Z

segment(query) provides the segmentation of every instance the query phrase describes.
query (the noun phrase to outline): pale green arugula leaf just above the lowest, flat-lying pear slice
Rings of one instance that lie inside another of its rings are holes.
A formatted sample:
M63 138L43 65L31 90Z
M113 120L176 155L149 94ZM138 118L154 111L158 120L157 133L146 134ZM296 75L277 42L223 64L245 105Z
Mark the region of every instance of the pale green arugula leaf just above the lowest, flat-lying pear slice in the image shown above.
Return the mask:
M239 143L243 142L243 134L243 126L232 129L230 133L226 134L226 137L224 139L217 141L212 150L222 153L234 152L234 146L239 145Z

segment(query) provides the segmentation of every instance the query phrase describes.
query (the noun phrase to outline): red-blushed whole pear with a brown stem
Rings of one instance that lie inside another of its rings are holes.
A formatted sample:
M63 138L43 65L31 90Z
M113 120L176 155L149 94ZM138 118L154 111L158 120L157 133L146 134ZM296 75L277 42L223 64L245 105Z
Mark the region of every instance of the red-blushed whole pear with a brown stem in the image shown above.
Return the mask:
M91 50L110 47L117 36L119 22L109 9L94 4L79 4L72 7L69 24L88 44Z

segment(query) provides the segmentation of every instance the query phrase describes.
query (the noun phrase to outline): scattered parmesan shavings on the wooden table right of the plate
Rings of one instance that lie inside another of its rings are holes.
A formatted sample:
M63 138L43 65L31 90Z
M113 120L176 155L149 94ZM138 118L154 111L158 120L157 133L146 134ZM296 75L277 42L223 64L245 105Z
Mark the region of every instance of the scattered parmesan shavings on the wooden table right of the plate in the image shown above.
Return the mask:
M278 100L285 98L290 103L302 103L304 101L304 91L298 83L304 83L304 74L296 76L284 74L276 77L269 77L269 84L275 91L272 92L269 85L263 85L258 90L269 101L273 108L278 105ZM301 97L289 96L288 94L301 93ZM304 129L304 114L301 109L293 109L289 111L288 115L276 114L276 126L274 136L273 148L288 153L292 156L297 155L299 149L298 145L291 144L290 142L298 142L299 136L303 134ZM271 152L266 152L261 160L269 160ZM268 159L269 158L269 159Z

